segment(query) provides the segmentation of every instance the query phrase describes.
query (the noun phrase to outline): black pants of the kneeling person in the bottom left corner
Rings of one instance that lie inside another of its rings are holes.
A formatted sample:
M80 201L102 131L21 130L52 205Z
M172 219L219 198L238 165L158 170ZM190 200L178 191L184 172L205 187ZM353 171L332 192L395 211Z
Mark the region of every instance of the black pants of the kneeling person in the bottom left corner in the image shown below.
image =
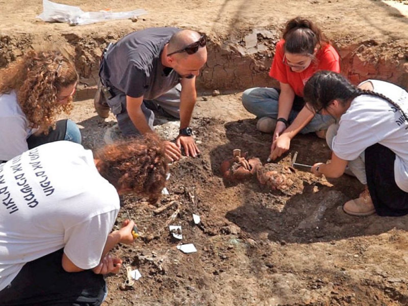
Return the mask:
M92 270L68 273L62 268L63 249L23 266L0 291L1 306L94 306L105 295L103 275Z

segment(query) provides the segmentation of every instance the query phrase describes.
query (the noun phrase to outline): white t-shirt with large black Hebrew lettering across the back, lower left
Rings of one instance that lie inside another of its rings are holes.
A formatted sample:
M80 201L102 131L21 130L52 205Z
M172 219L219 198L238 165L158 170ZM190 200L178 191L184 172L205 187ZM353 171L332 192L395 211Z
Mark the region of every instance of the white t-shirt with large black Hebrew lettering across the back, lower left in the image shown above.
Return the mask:
M0 290L61 248L76 266L97 266L118 211L115 187L80 144L47 143L0 165Z

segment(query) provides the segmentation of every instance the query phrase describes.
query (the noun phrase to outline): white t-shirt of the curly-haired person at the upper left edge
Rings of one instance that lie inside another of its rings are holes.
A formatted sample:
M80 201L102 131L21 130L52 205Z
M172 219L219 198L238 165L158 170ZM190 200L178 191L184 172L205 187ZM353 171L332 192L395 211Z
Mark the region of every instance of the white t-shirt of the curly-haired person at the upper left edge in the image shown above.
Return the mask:
M15 91L0 94L0 161L8 161L28 150L27 138L34 133L17 103Z

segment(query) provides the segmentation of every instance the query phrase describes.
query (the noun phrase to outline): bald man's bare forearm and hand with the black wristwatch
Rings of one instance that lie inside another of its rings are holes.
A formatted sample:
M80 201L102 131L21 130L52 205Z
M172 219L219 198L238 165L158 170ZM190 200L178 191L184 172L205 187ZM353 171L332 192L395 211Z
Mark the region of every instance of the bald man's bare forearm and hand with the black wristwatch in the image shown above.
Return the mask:
M180 94L180 129L184 129L190 125L197 92L195 90L195 77L191 79L183 78L180 83L182 85L182 92ZM187 156L196 157L200 153L192 136L179 135L176 144L179 148L183 145Z

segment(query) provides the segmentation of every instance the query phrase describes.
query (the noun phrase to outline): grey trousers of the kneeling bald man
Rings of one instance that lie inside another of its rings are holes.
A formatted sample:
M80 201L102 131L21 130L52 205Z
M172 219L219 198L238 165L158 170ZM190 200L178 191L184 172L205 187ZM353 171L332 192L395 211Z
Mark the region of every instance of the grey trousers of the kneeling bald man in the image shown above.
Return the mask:
M112 88L111 90L115 96L108 99L107 103L118 120L120 131L124 136L140 135L140 132L136 129L136 126L127 113L126 94L116 88ZM154 130L153 122L155 121L155 114L153 111L158 111L163 115L170 115L177 119L180 118L180 93L181 84L177 84L154 100L143 100L141 109L150 129Z

